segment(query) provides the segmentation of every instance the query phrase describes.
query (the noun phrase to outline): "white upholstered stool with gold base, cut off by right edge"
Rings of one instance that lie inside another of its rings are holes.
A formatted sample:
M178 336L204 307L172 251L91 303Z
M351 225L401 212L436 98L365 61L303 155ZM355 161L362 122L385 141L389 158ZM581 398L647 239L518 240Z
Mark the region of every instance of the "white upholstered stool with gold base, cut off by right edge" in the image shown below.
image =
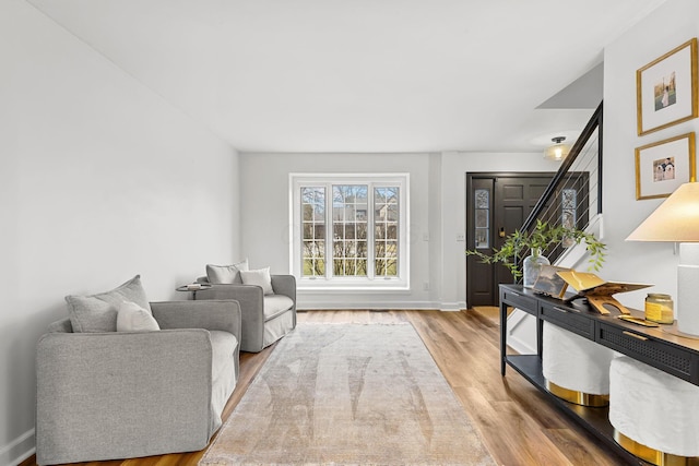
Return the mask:
M699 386L623 356L612 361L609 391L624 449L656 465L699 464Z

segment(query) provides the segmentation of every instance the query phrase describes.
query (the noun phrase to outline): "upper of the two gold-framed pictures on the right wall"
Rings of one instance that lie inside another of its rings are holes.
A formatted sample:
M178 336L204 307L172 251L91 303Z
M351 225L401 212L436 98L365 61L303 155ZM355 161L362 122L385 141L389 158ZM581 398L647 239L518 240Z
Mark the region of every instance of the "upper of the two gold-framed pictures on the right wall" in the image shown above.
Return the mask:
M697 118L697 38L636 72L638 134Z

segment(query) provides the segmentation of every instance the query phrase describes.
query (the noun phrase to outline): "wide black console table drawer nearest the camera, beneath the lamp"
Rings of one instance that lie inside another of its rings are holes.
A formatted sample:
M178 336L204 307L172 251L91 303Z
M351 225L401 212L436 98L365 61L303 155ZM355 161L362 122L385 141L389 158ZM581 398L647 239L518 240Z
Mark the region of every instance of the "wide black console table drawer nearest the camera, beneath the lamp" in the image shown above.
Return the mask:
M603 322L600 323L597 342L649 366L691 381L691 351L689 350Z

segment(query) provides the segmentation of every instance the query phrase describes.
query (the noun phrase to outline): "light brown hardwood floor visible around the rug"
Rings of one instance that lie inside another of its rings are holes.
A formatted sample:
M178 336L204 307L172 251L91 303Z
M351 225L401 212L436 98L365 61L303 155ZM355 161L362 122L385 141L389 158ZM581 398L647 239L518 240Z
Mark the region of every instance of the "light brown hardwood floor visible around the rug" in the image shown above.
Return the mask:
M553 407L520 374L499 372L497 308L440 311L307 311L298 322L410 322L422 336L457 397L498 464L620 465L624 461L599 444L573 420ZM235 408L273 347L240 358L238 386L224 410ZM94 466L190 466L204 451L125 461L82 463ZM21 466L35 466L32 456Z

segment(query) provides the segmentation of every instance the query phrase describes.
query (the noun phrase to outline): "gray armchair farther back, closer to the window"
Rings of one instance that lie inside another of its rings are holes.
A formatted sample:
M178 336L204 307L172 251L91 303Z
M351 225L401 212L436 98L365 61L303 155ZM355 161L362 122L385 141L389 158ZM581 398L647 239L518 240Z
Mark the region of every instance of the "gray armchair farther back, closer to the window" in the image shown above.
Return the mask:
M194 298L235 299L240 303L242 334L240 350L259 353L296 327L296 277L272 275L273 295L264 295L257 285L211 284ZM198 278L208 283L206 277Z

